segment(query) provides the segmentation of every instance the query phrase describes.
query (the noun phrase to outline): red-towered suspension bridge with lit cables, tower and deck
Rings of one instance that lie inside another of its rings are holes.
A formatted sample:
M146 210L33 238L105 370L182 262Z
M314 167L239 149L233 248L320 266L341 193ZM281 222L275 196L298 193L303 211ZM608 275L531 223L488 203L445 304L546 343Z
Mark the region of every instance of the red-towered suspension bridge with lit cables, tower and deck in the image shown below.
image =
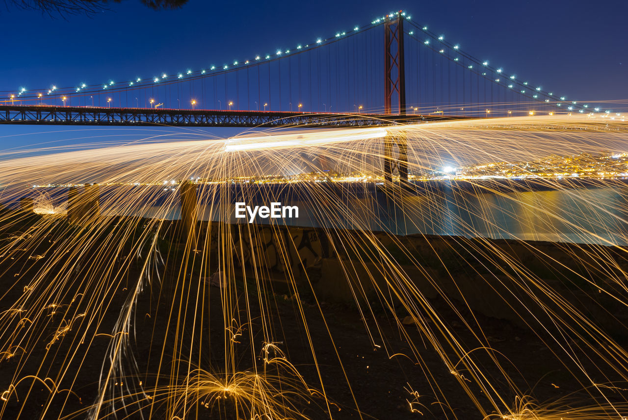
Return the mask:
M207 68L0 96L0 123L22 125L330 128L610 112L475 58L404 11ZM403 179L404 139L386 145L384 172L397 165Z

